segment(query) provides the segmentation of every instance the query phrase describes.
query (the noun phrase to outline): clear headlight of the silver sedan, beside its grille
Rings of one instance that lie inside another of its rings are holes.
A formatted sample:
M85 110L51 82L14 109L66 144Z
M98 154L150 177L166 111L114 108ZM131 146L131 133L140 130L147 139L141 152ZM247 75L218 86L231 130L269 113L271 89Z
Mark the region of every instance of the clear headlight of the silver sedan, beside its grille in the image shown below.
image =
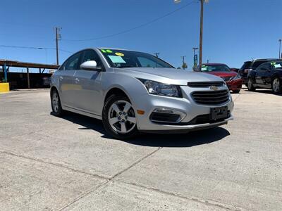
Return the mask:
M149 94L182 98L180 87L177 85L163 84L147 79L140 79L140 82L145 85Z

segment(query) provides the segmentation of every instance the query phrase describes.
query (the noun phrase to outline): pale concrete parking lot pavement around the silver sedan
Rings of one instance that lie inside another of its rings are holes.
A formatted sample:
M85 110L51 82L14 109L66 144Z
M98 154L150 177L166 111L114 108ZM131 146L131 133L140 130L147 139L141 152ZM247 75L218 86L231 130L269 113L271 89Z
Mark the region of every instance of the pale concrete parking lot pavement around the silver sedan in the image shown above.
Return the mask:
M0 210L281 210L282 96L233 99L226 126L118 141L48 89L0 94Z

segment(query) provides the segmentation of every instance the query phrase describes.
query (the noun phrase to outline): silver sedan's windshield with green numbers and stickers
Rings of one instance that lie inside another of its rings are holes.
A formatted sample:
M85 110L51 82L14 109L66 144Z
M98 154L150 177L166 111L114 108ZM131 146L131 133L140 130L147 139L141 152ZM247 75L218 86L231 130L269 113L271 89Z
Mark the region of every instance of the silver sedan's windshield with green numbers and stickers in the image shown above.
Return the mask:
M100 49L112 68L173 68L149 53L124 51L115 49Z

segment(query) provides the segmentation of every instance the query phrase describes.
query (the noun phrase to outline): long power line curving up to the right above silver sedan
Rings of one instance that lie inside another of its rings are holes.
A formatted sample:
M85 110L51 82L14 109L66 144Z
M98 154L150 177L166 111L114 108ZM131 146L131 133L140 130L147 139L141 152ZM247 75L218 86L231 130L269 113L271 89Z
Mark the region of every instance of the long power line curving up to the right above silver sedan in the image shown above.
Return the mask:
M154 18L153 20L150 20L149 22L143 23L143 24L138 25L136 27L132 27L132 28L130 28L128 30L123 30L121 32L117 32L117 33L114 33L114 34L109 34L109 35L105 35L105 36L102 36L102 37L96 37L96 38L91 38L91 39L62 39L62 40L63 41L92 41L92 40L97 40L97 39L104 39L104 38L109 38L109 37L115 37L115 36L117 36L119 34L125 34L127 32L131 32L133 30L137 30L137 29L139 29L141 27L145 27L146 25L149 25L149 24L152 24L154 22L157 22L158 20L161 20L162 18L166 18L167 16L172 15L173 13L176 13L176 12L182 10L183 8L189 6L189 5L193 4L193 3L195 3L195 0L191 1L188 4L185 4L184 6L178 8L178 9L176 9L174 11L171 11L170 13L166 13L165 15L161 15L159 18Z

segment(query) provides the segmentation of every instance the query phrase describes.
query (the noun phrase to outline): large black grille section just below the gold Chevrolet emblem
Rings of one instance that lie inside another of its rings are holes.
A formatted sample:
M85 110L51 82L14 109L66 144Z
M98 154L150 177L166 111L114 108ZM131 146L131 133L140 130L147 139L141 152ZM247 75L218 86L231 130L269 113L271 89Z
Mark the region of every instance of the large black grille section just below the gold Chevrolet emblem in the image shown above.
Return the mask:
M229 100L229 94L227 90L194 91L191 96L195 103L203 105L220 105Z

